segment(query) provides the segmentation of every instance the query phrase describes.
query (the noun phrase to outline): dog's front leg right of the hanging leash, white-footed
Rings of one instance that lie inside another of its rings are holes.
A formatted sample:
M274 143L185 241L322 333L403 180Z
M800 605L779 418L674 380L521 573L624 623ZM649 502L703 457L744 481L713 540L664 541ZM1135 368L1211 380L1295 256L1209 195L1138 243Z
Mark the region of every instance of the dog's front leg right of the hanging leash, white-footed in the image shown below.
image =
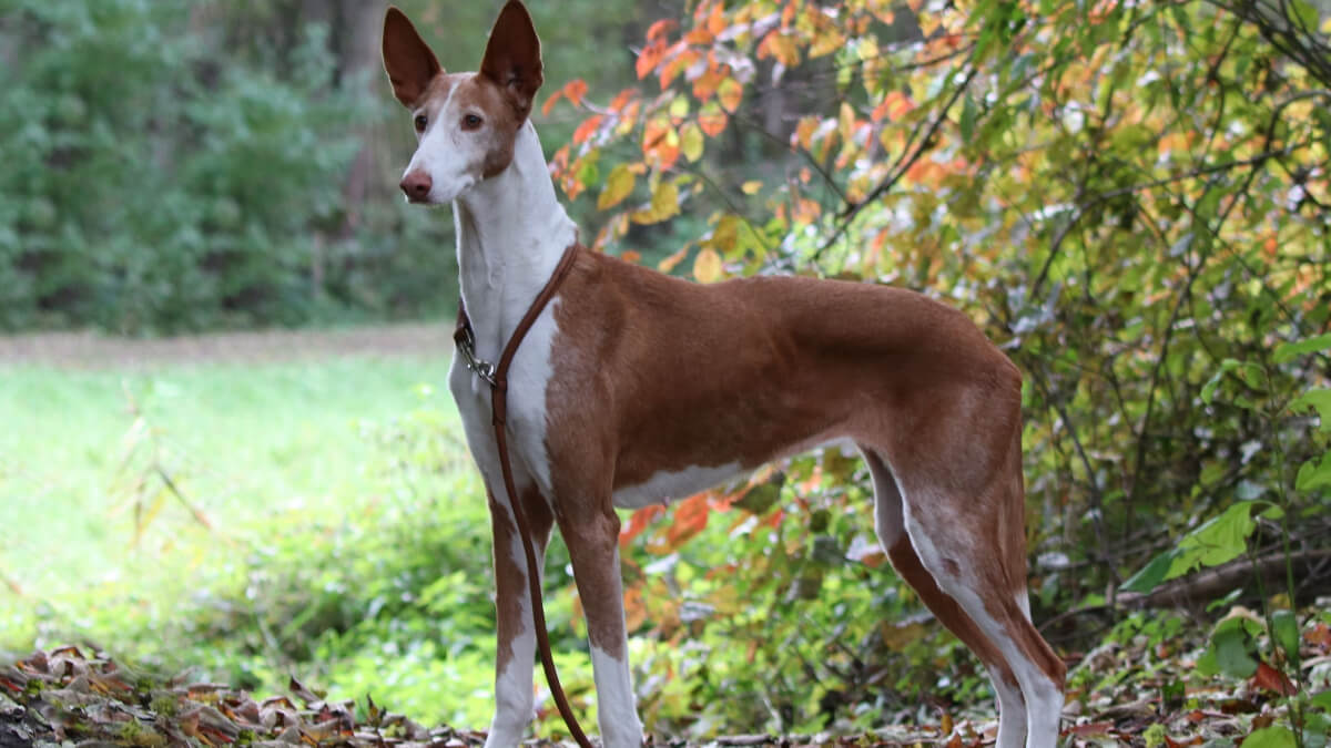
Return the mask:
M574 580L587 615L596 712L606 748L639 748L643 724L628 671L628 635L619 576L619 516L610 496L595 511L563 511L559 532L568 546Z

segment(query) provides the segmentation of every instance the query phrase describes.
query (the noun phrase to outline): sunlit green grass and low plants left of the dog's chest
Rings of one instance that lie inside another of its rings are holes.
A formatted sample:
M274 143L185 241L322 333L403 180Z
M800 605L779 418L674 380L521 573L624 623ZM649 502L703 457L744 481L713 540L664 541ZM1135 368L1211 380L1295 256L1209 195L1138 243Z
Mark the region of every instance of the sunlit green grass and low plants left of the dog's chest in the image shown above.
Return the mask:
M0 365L0 654L91 640L483 727L490 523L446 373L443 357ZM567 586L559 544L551 564ZM547 604L576 650L571 598Z

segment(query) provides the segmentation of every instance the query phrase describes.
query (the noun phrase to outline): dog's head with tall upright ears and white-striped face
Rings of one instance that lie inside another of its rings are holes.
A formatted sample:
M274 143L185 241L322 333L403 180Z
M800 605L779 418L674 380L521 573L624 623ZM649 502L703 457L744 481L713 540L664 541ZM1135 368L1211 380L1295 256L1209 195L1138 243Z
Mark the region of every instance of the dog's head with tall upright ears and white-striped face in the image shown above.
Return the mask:
M417 132L402 192L425 204L453 202L508 168L543 81L540 40L518 0L499 12L475 73L446 73L406 15L389 8L383 68Z

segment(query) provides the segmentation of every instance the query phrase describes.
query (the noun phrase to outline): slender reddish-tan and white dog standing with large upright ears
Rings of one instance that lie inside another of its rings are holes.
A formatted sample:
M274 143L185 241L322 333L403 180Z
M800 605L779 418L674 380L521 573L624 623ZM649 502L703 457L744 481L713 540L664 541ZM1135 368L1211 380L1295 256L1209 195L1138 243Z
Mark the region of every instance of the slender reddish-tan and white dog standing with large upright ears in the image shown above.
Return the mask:
M402 190L453 204L474 353L495 361L578 241L528 120L542 84L535 29L510 0L480 71L446 73L391 8L383 63L419 138ZM450 386L490 495L498 583L486 744L515 745L532 719L532 603L491 389L462 358ZM868 462L893 566L988 668L998 745L1055 744L1065 668L1026 598L1021 374L961 313L869 283L701 286L579 249L508 381L516 500L538 558L554 524L568 546L607 747L643 740L615 510L688 496L837 439Z

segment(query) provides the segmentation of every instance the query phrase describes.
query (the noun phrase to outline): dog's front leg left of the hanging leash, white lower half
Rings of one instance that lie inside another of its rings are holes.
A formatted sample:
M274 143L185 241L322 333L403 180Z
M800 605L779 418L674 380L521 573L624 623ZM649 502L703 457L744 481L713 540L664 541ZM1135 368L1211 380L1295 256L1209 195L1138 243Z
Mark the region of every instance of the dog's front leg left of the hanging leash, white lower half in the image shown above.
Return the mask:
M494 530L495 618L498 646L495 657L495 716L490 723L486 748L511 748L522 743L534 716L532 659L536 634L531 623L531 592L527 583L527 556L522 536L507 502L490 496L490 524ZM546 546L554 524L548 504L539 492L523 494L523 508L532 534L536 563L544 566ZM535 500L532 500L535 499ZM538 568L538 575L540 568Z

